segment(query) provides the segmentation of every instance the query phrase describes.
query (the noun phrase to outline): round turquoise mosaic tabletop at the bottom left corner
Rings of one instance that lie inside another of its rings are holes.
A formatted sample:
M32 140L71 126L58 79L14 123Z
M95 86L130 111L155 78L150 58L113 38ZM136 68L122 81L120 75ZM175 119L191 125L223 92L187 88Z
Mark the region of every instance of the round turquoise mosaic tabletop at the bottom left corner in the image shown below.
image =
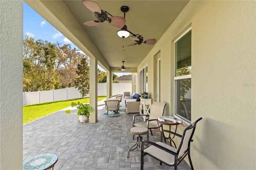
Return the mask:
M56 154L46 153L32 156L23 161L23 170L49 170L58 161Z

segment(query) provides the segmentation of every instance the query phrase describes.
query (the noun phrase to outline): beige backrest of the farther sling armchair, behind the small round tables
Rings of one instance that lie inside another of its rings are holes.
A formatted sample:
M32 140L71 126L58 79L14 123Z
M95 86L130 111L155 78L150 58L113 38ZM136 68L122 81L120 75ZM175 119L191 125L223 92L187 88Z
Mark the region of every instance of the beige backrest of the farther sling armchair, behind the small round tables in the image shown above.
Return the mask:
M158 117L164 115L164 108L166 103L153 102L150 108L149 119L157 119Z

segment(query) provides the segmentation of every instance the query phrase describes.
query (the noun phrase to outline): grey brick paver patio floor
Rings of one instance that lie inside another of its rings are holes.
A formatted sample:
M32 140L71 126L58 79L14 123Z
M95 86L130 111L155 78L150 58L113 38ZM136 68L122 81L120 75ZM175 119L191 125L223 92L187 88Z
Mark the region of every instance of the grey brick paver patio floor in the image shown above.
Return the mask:
M23 160L54 153L58 155L54 170L139 170L140 153L130 152L127 158L129 147L136 142L130 133L136 113L106 117L103 103L98 103L96 123L79 123L76 115L62 110L23 125ZM159 130L152 131L149 140L160 141ZM144 157L144 170L172 168L148 155ZM190 167L182 161L178 169Z

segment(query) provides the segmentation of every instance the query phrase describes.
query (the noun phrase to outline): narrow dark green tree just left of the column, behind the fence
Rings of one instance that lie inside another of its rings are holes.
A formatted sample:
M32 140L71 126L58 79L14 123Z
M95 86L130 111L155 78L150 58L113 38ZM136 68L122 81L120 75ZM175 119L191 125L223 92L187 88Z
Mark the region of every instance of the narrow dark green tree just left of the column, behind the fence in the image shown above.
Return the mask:
M89 93L89 66L88 66L88 57L84 57L78 63L76 73L78 77L74 79L74 85L82 94L82 98Z

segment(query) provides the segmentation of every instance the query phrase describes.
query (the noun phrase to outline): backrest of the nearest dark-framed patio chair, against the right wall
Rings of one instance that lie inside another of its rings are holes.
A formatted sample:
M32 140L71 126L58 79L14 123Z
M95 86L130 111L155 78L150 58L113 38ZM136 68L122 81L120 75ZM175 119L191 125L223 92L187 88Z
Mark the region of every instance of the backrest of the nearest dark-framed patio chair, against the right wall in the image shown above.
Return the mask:
M191 123L185 128L180 142L180 146L177 151L177 153L179 154L178 157L182 156L184 152L187 152L190 149L190 142L196 129L196 123L198 123L198 121L200 121L201 119L202 117L200 117L195 122Z

